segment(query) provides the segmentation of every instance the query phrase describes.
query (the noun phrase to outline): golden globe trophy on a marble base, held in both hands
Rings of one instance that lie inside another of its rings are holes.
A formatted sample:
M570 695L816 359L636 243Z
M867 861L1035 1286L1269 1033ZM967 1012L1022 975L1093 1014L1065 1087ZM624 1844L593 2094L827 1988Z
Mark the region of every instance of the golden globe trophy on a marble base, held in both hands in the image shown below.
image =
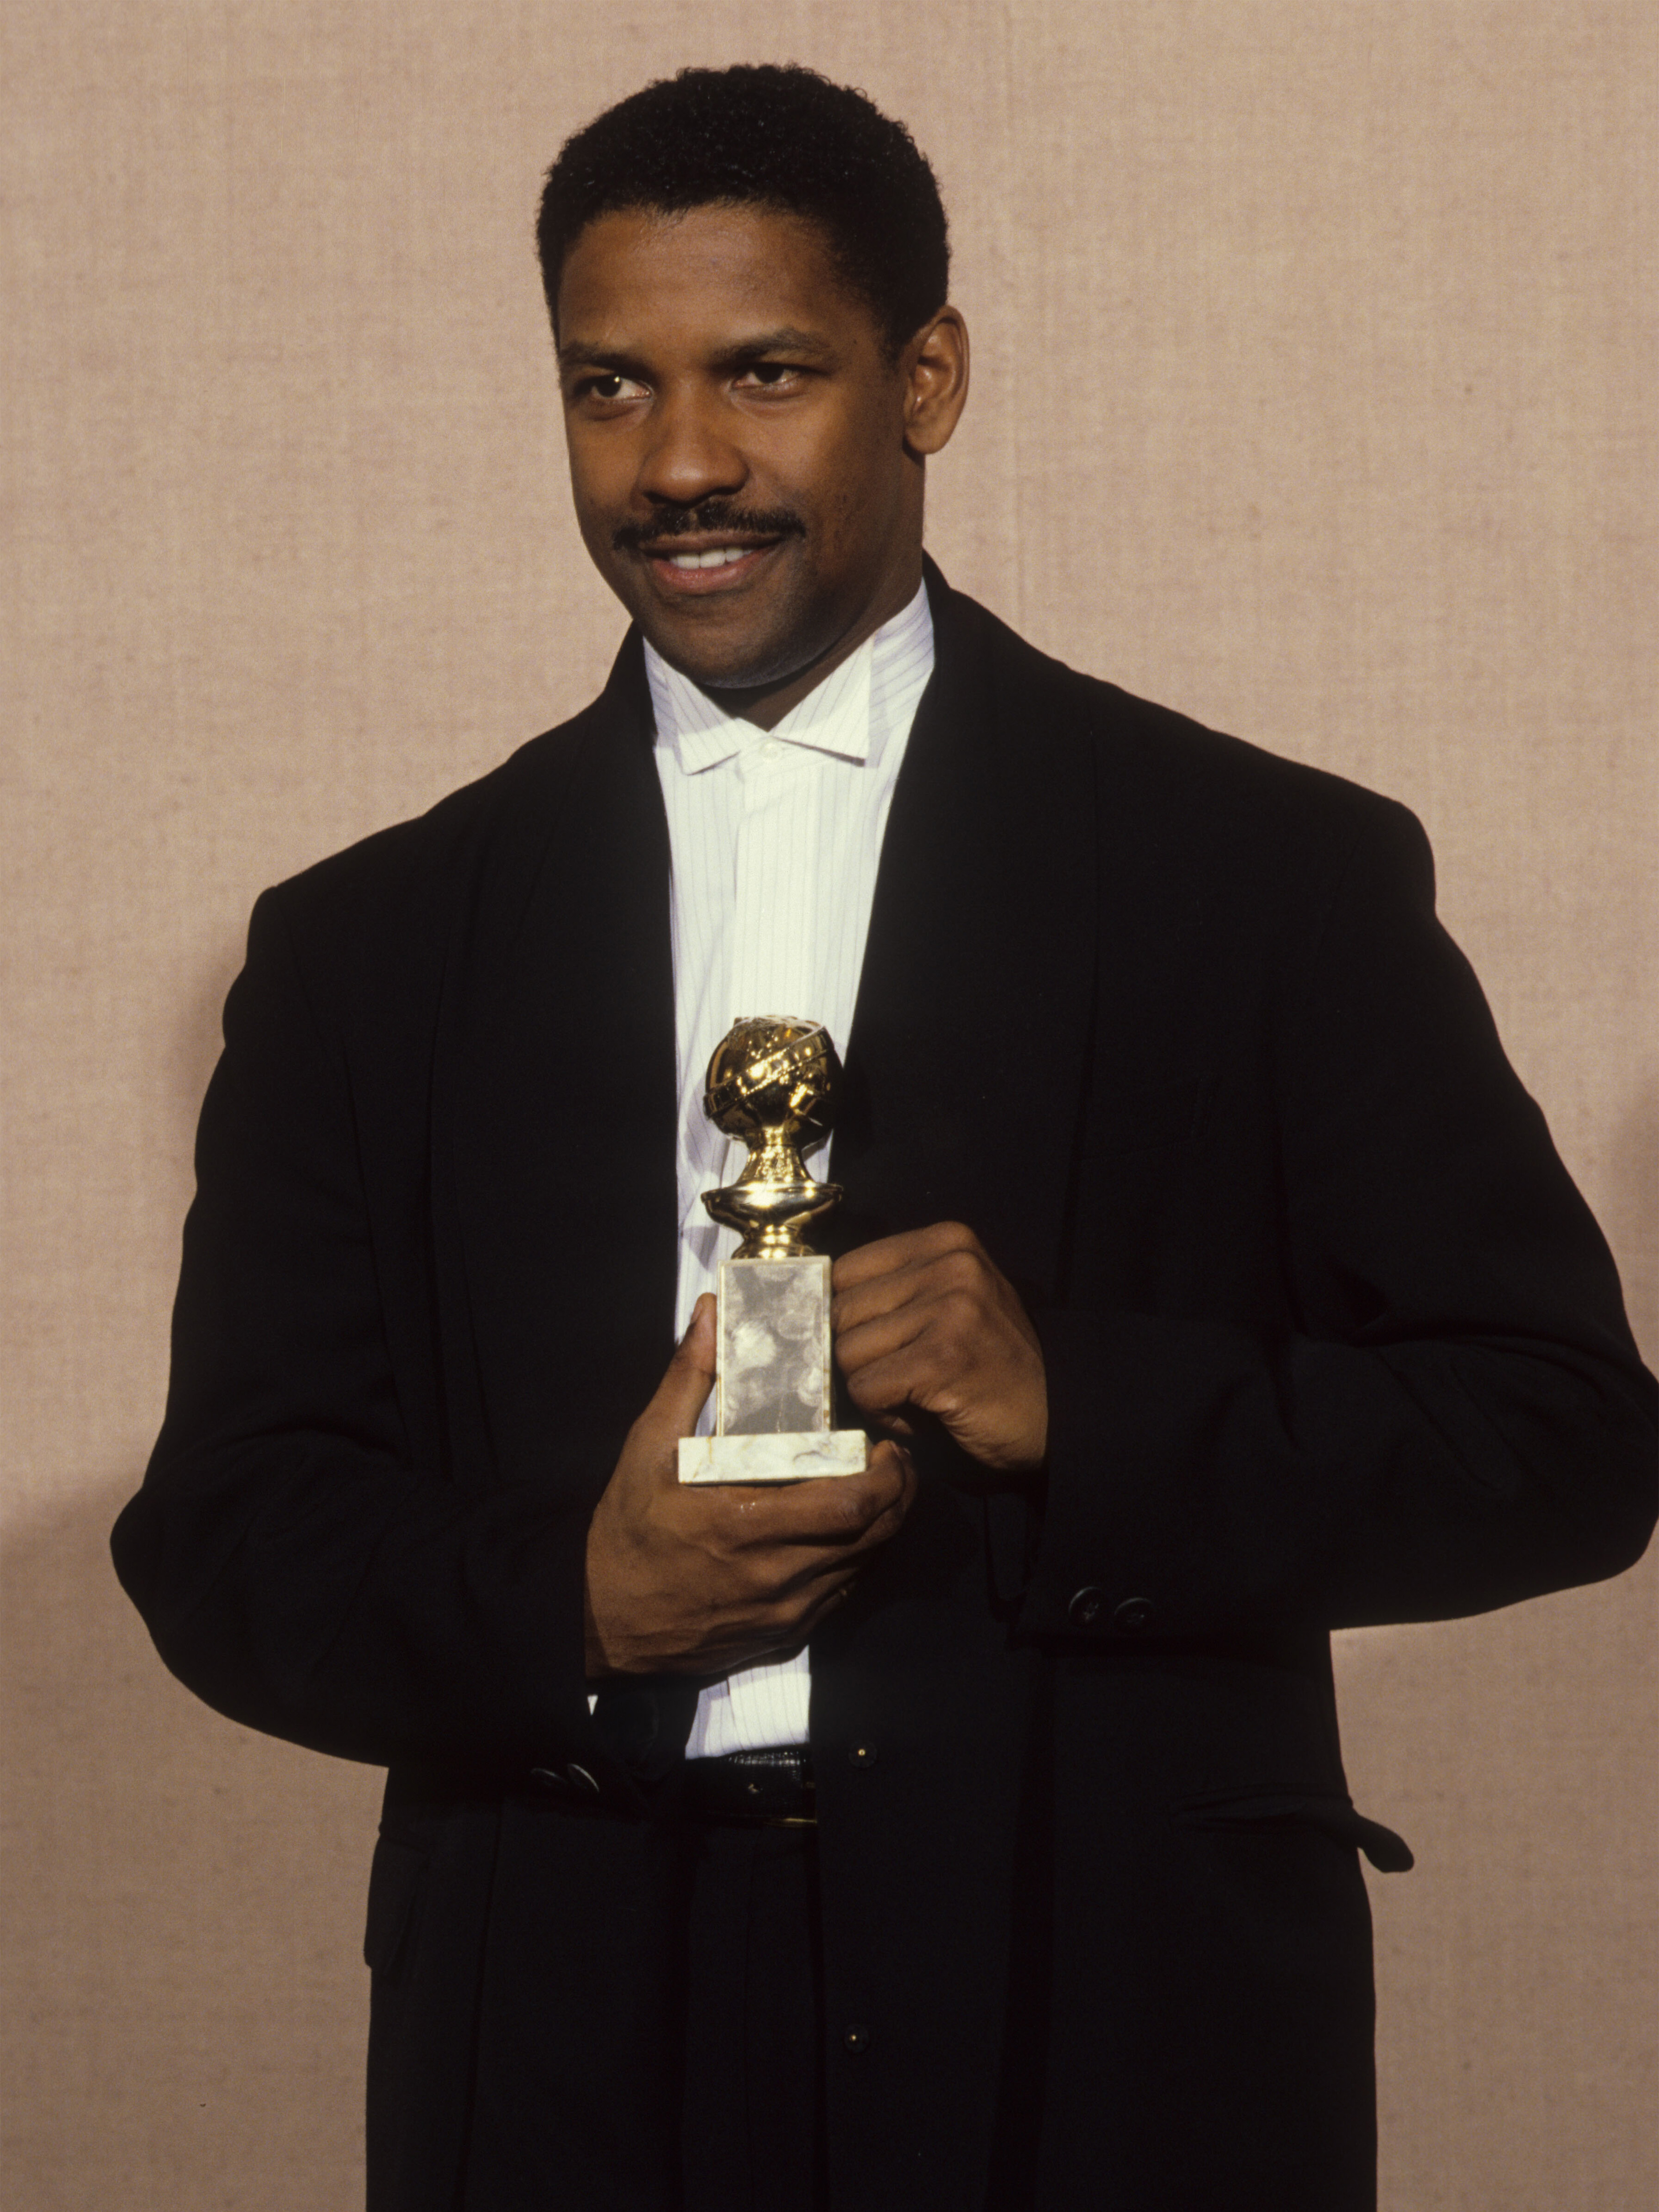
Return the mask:
M841 1062L823 1022L734 1022L708 1062L703 1113L748 1166L703 1206L743 1243L721 1261L714 1433L679 1440L681 1482L860 1475L863 1429L830 1427L830 1261L801 1234L841 1199L801 1146L830 1128Z

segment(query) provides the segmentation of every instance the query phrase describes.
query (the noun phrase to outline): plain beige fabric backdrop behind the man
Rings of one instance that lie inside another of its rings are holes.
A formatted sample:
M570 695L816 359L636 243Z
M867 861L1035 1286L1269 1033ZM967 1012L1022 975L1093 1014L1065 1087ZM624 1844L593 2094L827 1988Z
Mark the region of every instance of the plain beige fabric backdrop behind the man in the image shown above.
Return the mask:
M1394 792L1652 1349L1641 0L11 0L7 1657L18 2212L361 2188L376 1774L195 1705L108 1573L252 896L597 686L529 226L686 60L933 155L947 573ZM1652 1573L1343 1639L1387 2212L1655 2203ZM1210 2212L1210 2208L1194 2208ZM1217 2208L1219 2212L1219 2208Z

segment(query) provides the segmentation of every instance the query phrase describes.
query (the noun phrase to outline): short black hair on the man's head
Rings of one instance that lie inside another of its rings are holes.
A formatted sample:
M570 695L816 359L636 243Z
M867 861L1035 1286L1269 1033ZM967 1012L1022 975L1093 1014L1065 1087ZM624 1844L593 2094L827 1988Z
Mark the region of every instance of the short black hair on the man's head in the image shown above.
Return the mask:
M823 230L889 354L945 305L945 206L909 131L816 69L741 64L659 77L566 139L535 223L549 314L595 217L745 201Z

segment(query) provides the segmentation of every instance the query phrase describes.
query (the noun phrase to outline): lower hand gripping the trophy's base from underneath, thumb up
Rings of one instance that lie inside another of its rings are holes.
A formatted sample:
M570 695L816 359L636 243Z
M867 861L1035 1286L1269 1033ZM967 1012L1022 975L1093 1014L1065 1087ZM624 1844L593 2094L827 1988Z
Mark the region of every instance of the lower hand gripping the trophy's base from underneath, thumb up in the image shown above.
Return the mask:
M730 1674L799 1650L909 1511L916 1473L876 1444L863 1475L681 1484L677 1444L714 1385L714 1301L697 1301L588 1524L588 1681Z

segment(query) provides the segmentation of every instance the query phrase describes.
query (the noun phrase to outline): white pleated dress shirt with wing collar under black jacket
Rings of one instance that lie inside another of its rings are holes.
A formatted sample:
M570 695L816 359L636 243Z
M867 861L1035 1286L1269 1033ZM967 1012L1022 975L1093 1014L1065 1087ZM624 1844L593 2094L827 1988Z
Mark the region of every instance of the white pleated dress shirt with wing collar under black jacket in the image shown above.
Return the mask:
M703 1113L708 1062L732 1022L768 1013L823 1022L847 1051L887 810L931 670L927 588L774 730L728 714L646 646L672 854L677 1332L737 1248L703 1192L748 1157ZM827 1175L827 1161L830 1144L807 1168ZM703 1431L712 1418L710 1400ZM730 1674L701 1692L686 1754L805 1743L807 1694L805 1652Z

